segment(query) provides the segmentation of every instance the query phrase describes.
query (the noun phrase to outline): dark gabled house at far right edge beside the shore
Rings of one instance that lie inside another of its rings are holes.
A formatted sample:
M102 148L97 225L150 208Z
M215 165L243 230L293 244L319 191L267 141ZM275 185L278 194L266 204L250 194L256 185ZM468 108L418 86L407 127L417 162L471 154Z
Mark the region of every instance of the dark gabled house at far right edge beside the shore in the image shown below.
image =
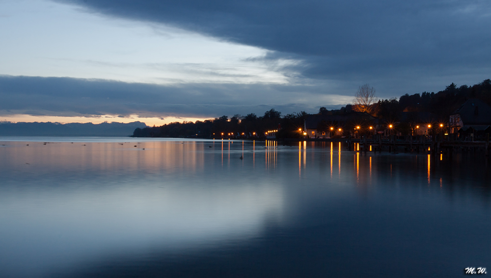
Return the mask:
M491 130L491 107L479 99L469 99L450 115L450 133L489 133Z

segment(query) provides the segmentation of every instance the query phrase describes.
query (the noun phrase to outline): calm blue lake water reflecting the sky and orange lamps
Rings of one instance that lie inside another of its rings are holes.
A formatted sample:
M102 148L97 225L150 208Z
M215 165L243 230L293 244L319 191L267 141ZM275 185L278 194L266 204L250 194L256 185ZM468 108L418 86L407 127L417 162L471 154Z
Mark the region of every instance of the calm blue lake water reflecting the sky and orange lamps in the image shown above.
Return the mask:
M479 153L0 140L0 277L462 277L465 267L491 268L491 173Z

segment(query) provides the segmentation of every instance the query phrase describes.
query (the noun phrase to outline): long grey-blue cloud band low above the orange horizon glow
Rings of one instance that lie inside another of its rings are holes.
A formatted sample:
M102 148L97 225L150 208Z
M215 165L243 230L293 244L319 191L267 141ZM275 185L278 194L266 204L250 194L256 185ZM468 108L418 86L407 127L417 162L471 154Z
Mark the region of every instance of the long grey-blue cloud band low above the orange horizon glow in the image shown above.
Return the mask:
M210 84L157 85L70 77L0 76L0 114L45 116L138 115L214 118L283 114L338 108L352 96L320 94L312 85Z

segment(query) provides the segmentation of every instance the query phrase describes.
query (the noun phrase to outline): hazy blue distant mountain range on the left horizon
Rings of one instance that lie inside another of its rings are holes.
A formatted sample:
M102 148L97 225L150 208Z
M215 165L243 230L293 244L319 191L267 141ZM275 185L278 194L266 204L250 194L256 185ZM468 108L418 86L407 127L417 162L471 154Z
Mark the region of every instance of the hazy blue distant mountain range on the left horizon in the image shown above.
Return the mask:
M145 123L0 123L0 136L130 136Z

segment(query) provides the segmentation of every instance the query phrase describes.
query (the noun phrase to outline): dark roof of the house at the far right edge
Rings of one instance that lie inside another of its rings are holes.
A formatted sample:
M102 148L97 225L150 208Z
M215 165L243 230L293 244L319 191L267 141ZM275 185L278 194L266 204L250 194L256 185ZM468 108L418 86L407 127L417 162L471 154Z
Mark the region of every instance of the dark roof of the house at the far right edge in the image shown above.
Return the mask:
M491 125L491 107L478 99L469 99L452 115L460 115L465 126Z

